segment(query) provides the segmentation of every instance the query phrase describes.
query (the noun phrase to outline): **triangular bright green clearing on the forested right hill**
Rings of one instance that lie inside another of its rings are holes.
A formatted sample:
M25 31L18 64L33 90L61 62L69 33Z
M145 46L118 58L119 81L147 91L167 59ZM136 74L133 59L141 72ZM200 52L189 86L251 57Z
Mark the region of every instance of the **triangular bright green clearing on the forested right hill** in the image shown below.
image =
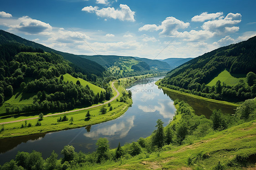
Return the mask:
M216 82L220 80L221 82L225 82L226 85L236 85L239 80L246 81L246 75L244 74L230 74L227 70L222 71L217 77L208 83L208 86L213 86Z

